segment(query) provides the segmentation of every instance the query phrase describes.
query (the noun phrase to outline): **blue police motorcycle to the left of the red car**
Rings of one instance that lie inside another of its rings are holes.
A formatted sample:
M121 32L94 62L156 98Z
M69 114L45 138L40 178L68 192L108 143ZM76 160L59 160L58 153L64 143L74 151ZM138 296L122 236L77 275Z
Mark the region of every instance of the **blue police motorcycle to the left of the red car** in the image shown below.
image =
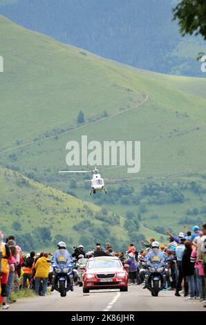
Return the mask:
M53 288L66 297L68 290L73 291L73 263L59 262L53 265Z

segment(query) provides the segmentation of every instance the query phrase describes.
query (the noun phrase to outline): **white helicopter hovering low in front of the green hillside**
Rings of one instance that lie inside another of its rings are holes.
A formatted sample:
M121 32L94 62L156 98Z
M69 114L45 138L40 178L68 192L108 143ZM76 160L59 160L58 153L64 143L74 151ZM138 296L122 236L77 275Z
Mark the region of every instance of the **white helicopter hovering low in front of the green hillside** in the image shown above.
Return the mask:
M95 167L92 171L89 170L60 170L59 173L93 173L93 178L91 180L85 180L86 182L91 182L91 189L90 189L90 195L95 194L96 192L102 192L106 194L106 189L104 187L104 180L107 178L102 178L100 175L99 169Z

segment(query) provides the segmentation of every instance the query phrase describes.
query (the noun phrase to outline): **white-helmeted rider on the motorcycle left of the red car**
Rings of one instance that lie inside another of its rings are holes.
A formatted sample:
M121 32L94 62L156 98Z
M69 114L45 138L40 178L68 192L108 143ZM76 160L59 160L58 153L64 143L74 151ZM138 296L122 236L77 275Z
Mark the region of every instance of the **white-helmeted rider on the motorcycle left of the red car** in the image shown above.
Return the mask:
M64 262L64 263L70 263L73 262L71 254L68 252L66 249L66 243L64 241L59 241L57 244L57 250L53 256L53 263L59 263L59 262ZM73 281L76 282L78 279L78 272L77 270L73 269ZM53 278L53 284L50 289L51 292L55 290L55 283L54 283L54 278ZM71 284L71 291L73 291L73 284Z

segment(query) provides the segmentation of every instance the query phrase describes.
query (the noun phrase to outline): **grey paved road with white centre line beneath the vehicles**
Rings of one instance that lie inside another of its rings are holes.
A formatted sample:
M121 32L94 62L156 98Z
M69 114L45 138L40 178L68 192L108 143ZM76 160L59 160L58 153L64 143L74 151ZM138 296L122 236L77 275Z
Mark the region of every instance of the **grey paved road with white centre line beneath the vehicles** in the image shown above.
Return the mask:
M128 293L119 290L94 290L83 294L82 288L75 287L75 291L68 292L66 297L60 297L53 292L46 297L32 297L18 299L10 306L12 310L22 311L206 311L199 300L186 300L175 297L174 291L162 291L159 297L151 297L148 290L142 286L129 286Z

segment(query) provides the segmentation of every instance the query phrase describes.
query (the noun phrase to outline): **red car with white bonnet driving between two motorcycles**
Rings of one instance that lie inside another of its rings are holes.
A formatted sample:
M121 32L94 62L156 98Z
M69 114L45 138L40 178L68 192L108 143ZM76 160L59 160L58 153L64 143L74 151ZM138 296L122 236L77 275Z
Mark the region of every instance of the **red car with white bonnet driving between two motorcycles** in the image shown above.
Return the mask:
M128 267L118 257L93 257L83 266L83 293L97 289L128 290Z

